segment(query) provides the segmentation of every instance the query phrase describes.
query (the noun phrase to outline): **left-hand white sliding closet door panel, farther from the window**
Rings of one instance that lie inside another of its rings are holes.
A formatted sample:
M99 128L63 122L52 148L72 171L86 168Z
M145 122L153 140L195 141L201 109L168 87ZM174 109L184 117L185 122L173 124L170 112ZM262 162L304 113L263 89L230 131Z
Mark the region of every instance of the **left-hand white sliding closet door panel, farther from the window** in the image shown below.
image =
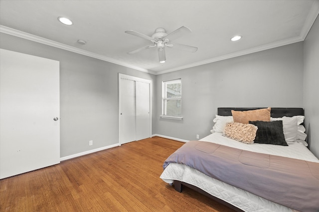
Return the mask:
M135 134L135 81L120 79L120 142L136 141Z

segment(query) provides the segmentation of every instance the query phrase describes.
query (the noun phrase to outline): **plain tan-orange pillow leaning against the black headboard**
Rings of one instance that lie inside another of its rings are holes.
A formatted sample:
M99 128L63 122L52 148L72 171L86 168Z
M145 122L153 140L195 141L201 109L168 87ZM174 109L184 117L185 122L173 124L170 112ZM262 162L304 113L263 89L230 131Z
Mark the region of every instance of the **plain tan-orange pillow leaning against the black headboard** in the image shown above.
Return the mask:
M249 121L264 121L270 122L270 110L271 108L248 110L248 111L235 111L232 110L234 122L242 124L248 124Z

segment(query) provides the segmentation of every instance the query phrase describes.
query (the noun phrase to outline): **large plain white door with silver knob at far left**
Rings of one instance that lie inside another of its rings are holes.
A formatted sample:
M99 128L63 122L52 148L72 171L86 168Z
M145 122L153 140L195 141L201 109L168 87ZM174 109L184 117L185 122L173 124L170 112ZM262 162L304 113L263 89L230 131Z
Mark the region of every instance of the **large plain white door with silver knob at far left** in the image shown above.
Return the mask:
M0 50L0 179L60 162L59 62Z

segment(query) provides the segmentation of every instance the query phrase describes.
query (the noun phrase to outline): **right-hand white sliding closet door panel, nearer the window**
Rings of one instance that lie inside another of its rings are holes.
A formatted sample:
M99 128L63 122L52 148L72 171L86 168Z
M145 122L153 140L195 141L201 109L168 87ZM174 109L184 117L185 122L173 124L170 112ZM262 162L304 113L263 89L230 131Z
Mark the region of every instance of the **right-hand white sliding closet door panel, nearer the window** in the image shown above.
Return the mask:
M151 137L150 84L136 81L136 140Z

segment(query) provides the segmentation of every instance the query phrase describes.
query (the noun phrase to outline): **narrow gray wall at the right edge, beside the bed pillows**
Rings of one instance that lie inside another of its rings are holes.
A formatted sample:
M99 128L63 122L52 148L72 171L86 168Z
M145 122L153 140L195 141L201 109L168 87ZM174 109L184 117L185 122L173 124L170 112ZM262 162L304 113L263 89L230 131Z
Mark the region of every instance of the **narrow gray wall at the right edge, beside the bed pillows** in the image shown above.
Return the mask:
M319 17L304 41L304 108L310 150L319 157Z

